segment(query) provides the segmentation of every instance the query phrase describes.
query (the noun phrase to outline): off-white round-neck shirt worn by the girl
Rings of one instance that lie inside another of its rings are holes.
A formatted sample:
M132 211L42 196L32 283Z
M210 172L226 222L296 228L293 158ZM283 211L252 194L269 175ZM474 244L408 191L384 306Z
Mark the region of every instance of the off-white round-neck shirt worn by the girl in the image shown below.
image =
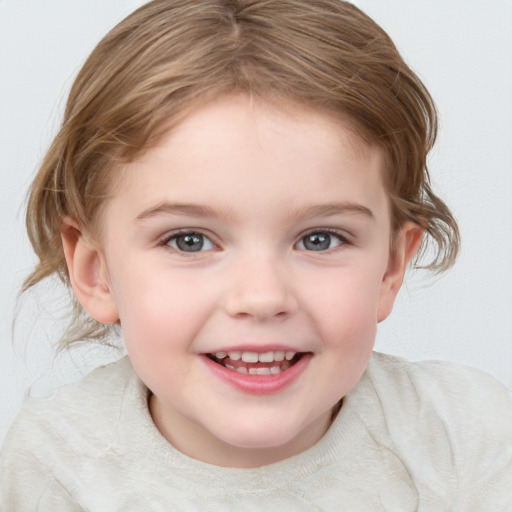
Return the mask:
M0 510L512 511L512 398L486 374L375 353L324 437L276 464L191 459L154 426L128 358L28 399Z

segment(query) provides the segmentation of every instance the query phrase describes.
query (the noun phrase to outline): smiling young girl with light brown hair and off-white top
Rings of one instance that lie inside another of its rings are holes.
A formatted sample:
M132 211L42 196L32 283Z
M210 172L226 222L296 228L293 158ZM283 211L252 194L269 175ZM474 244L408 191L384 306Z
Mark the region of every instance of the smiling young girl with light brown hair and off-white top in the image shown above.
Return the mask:
M372 353L408 263L454 262L435 107L339 0L156 0L71 90L31 190L67 343L128 356L30 399L2 510L510 510L512 403Z

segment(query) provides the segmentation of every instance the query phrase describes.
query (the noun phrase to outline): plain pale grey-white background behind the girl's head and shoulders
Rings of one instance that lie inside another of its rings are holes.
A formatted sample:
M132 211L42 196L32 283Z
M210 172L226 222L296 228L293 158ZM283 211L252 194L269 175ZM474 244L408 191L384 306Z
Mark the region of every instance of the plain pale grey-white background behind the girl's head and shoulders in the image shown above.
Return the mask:
M17 303L34 263L27 187L88 53L141 0L0 0L0 443L34 394L119 357L95 347L54 357L65 292L45 284ZM441 117L434 188L463 249L441 277L411 273L377 350L481 368L512 388L512 2L358 0L429 87ZM19 312L12 320L16 304Z

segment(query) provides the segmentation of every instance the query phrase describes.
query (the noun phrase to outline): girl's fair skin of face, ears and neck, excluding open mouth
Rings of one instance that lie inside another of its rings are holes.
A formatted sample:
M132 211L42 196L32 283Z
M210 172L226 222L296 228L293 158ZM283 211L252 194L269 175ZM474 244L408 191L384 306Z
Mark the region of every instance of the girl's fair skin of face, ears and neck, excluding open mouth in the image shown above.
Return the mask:
M380 149L325 113L229 97L122 169L101 234L64 220L78 299L120 322L155 425L180 451L254 467L324 435L421 239L406 224L390 250L383 172ZM202 249L180 250L178 230ZM306 235L326 230L311 250ZM275 347L307 359L271 393L218 378L204 355Z

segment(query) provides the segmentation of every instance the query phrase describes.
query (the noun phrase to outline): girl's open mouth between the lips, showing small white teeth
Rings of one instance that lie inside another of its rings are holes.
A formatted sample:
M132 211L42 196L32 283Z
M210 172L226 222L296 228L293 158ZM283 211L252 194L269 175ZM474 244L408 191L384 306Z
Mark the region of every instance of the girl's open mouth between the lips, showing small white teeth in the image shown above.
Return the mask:
M305 352L215 352L206 354L213 362L245 375L277 375L302 359Z

